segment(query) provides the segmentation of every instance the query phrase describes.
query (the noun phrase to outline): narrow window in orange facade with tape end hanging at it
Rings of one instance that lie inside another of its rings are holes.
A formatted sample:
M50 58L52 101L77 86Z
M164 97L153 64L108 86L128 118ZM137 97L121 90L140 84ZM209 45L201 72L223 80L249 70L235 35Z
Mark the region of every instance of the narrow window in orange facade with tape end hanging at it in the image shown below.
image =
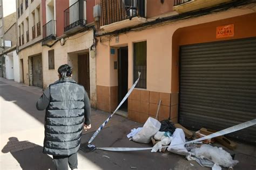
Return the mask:
M146 89L147 84L147 41L135 42L133 44L133 82L140 79L137 88Z

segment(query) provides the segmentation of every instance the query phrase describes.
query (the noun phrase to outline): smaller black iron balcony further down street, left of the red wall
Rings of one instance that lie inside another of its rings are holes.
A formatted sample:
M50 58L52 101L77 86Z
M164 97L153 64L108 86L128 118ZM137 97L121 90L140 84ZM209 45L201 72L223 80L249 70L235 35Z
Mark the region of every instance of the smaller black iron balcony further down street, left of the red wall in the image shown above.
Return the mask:
M50 20L43 26L43 42L56 40L56 20Z

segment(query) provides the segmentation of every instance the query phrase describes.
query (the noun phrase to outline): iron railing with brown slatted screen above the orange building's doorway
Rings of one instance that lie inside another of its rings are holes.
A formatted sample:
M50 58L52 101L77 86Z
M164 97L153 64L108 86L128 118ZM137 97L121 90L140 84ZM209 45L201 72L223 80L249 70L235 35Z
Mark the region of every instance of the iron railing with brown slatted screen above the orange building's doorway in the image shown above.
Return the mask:
M109 25L132 17L145 17L145 0L100 1L102 8L101 25Z

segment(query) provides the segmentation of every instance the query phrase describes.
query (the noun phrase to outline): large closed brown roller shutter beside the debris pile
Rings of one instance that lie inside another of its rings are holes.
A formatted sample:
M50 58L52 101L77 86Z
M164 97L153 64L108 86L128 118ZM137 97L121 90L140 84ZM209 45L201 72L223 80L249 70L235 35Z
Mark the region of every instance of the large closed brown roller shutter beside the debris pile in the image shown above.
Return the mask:
M256 38L180 47L179 123L222 130L256 118ZM256 144L256 126L227 136Z

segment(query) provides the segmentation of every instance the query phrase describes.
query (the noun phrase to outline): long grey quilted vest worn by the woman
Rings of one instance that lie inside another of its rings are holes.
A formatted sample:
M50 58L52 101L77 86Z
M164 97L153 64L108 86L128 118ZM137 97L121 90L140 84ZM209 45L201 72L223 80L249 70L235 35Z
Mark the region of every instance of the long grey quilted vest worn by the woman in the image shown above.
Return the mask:
M49 86L50 103L45 114L44 153L71 155L80 147L84 125L84 87L72 79Z

